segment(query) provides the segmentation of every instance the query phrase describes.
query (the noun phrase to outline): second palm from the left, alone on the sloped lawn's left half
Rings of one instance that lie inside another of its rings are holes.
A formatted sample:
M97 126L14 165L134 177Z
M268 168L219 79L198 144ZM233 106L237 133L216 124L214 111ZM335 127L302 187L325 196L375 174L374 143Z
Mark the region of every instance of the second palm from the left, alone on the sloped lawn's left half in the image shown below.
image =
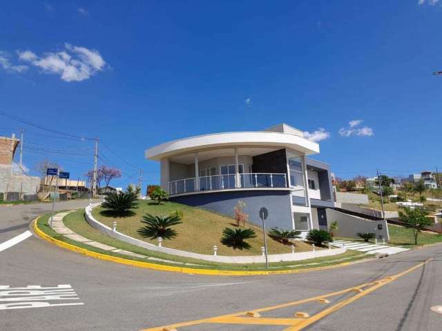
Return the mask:
M138 229L138 234L143 238L156 239L172 239L177 237L177 232L171 229L171 226L182 223L178 214L171 215L151 215L146 214L142 223L146 223L144 227Z

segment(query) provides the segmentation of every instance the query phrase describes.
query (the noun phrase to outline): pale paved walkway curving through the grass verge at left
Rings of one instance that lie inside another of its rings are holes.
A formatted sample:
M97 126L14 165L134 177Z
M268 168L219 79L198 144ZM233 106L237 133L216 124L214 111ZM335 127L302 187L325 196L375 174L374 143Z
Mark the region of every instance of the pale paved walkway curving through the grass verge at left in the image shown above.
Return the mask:
M137 257L139 259L146 259L151 261L160 261L160 262L166 262L166 263L173 263L173 264L182 264L182 265L198 265L193 263L184 263L184 262L178 262L178 261L171 261L166 259L159 259L157 257L146 257L142 254L137 254L134 252L129 252L128 250L121 250L119 248L113 247L111 245L106 245L104 243L99 243L98 241L93 241L88 238L85 238L75 232L73 230L70 230L66 225L63 223L63 219L67 214L70 214L71 212L75 212L75 210L69 210L68 212L59 212L58 214L55 214L52 218L52 230L57 232L58 234L62 234L64 237L72 239L74 241L78 241L79 243L84 243L86 245L93 246L95 248L99 248L101 250L108 250L110 252L115 252L118 254L128 255L131 257ZM48 221L50 224L50 219Z

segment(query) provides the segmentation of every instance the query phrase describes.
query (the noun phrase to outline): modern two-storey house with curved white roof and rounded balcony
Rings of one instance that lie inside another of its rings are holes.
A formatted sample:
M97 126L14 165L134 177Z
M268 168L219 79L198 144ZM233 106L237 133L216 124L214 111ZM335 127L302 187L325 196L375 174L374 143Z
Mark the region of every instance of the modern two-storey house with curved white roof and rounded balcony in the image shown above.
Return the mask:
M285 123L258 132L204 134L146 150L160 161L161 186L171 201L233 216L245 203L249 221L307 232L327 229L326 208L334 207L327 163L309 159L318 143Z

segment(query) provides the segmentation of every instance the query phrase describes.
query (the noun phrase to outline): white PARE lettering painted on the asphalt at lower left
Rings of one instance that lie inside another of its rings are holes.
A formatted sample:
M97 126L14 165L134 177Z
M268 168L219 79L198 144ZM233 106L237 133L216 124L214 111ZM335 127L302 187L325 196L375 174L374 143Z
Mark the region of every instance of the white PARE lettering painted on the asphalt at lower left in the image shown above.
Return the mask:
M29 285L26 288L11 288L9 285L0 285L0 310L84 305L82 302L46 302L51 300L70 301L79 300L79 297L77 297L77 294L69 284L48 288L40 285Z

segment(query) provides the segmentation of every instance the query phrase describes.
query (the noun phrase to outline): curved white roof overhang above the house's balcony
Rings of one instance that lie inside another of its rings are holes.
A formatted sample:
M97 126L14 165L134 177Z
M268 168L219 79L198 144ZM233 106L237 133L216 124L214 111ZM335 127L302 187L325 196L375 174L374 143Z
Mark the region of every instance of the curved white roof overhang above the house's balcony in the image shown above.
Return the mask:
M145 157L150 160L160 160L175 154L227 146L273 146L291 148L306 155L317 154L319 152L318 143L314 143L313 141L294 134L252 131L213 133L177 139L149 148L145 152Z

